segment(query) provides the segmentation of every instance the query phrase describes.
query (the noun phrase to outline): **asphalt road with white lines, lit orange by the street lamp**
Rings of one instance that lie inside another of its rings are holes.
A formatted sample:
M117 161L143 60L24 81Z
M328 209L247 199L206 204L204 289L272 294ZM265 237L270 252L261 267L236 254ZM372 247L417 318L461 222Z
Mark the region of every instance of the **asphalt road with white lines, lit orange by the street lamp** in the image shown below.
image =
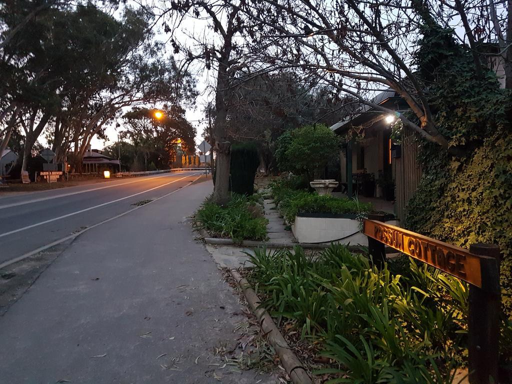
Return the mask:
M0 265L172 193L199 175L176 172L0 197Z

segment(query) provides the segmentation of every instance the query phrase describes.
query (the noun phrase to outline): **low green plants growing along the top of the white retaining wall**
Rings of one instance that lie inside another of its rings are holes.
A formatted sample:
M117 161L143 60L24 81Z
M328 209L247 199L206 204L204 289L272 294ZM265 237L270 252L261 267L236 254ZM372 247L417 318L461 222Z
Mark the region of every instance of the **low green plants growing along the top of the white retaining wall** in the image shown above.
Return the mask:
M272 183L272 195L279 211L288 223L295 221L299 213L319 214L367 214L372 210L371 203L361 203L354 199L321 196L307 190L292 189L287 180Z

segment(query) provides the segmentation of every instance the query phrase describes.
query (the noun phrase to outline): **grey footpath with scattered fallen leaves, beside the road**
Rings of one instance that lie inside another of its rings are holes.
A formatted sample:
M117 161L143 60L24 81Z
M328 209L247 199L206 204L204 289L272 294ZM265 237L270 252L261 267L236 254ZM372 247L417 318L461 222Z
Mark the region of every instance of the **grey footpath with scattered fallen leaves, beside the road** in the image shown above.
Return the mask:
M0 383L276 382L216 353L236 348L245 317L186 219L211 190L77 238L0 317Z

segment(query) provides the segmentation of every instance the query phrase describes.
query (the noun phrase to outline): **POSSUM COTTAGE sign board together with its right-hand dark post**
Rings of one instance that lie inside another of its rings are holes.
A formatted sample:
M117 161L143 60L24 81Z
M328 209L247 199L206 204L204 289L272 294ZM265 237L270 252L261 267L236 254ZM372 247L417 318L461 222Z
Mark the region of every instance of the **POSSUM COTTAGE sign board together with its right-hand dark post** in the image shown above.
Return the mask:
M493 244L473 244L468 251L375 220L365 220L364 233L368 245L376 240L470 284L467 322L470 383L497 383L500 248Z

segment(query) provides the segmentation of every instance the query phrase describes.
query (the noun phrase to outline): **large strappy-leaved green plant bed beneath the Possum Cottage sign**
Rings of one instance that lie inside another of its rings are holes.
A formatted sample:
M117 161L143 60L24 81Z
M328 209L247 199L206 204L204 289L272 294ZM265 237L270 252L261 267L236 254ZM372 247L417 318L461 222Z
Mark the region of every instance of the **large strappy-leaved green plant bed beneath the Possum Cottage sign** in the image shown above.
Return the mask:
M322 371L329 382L452 382L465 364L468 291L452 276L412 259L378 270L343 245L316 260L300 247L259 249L251 262L269 312L336 362Z

